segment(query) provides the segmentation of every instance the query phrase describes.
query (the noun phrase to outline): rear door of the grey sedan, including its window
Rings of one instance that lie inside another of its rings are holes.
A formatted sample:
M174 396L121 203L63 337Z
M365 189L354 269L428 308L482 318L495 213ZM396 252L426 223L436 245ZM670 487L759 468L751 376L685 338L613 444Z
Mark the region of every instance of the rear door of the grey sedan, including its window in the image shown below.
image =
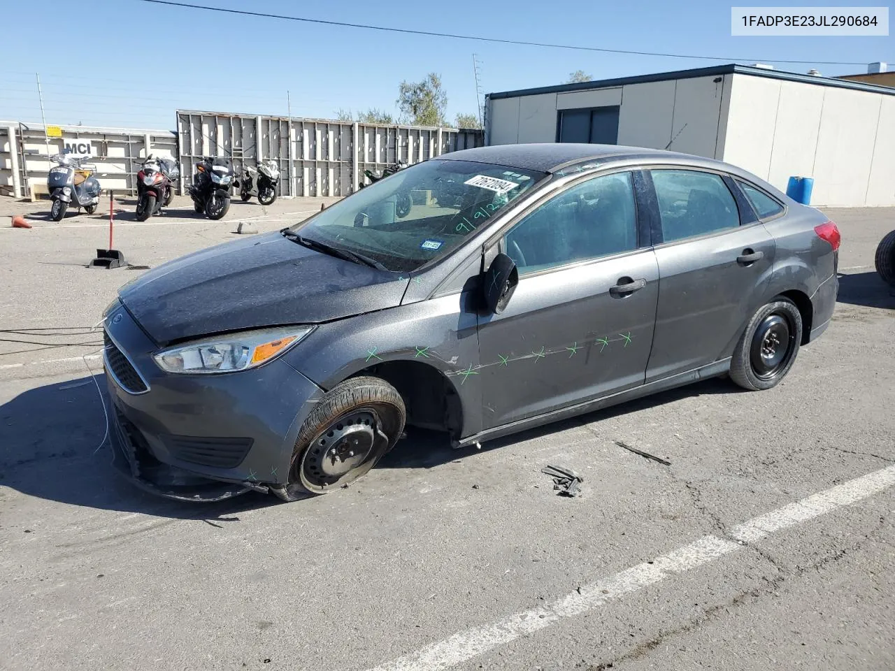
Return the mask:
M659 305L646 381L724 359L768 285L774 241L726 174L649 171Z

